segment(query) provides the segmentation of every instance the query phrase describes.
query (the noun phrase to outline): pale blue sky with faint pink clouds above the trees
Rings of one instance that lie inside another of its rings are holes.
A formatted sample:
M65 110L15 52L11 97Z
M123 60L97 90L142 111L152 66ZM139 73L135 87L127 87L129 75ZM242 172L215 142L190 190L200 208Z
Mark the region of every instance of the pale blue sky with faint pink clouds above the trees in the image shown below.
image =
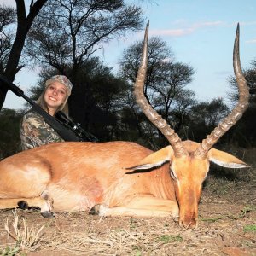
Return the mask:
M138 3L137 1L130 1ZM15 4L15 0L0 0ZM199 101L223 97L227 101L227 79L233 74L232 50L236 24L240 23L241 66L256 59L255 0L151 0L140 3L145 20L150 20L149 37L159 36L172 49L176 61L195 68L189 89ZM124 49L143 39L143 32L104 45L98 55L116 71ZM26 92L36 84L37 72L24 69L15 83ZM4 108L22 108L24 100L8 93Z

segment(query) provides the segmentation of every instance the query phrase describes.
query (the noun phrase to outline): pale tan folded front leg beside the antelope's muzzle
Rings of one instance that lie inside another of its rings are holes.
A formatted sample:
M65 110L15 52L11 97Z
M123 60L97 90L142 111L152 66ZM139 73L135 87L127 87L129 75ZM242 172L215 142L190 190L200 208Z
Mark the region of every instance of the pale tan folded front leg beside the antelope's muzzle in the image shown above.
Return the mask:
M156 197L136 197L125 204L125 207L106 207L97 205L90 210L92 214L101 216L141 216L141 217L177 217L176 201Z

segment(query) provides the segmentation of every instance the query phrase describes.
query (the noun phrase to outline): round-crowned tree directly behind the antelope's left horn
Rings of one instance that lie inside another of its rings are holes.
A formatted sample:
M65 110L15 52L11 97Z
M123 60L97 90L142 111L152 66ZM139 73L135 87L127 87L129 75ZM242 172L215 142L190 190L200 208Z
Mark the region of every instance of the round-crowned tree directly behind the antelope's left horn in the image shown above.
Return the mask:
M128 49L126 49L121 57L120 63L120 73L130 84L133 86L137 70L140 63L140 58L143 51L143 42L137 42L132 44ZM160 38L153 37L150 38L148 43L148 73L144 86L144 93L148 102L152 107L162 115L168 123L175 126L182 120L182 115L174 113L178 112L177 108L183 109L189 108L189 104L195 102L195 94L191 90L187 90L185 86L189 84L192 80L192 75L194 70L189 65L183 64L181 62L175 62L172 50L166 45L164 41ZM131 89L132 91L132 89ZM131 104L133 101L131 91L127 97L127 106L132 106L133 110L131 113L137 119L137 130L138 135L142 135L142 130L148 133L151 131L148 125L148 120L142 121L143 115L141 112ZM184 101L186 99L186 101ZM182 108L181 104L186 102ZM189 104L187 104L189 102ZM172 108L171 108L172 106ZM177 120L177 118L180 118ZM146 125L145 123L146 122ZM144 126L145 128L143 129ZM177 125L180 127L180 125ZM155 134L154 128L154 134ZM147 137L154 137L154 134L150 134ZM158 136L161 136L160 133Z

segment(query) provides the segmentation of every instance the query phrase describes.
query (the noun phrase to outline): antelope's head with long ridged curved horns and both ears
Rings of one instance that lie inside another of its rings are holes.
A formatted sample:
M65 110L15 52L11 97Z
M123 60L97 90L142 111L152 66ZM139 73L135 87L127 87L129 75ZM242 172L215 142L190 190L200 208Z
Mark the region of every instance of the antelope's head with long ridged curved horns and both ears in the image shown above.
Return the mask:
M239 89L239 102L220 124L201 143L192 141L182 142L177 133L166 123L166 120L154 111L144 96L143 86L147 73L148 62L148 25L144 37L141 66L137 73L135 83L135 96L137 104L142 108L148 119L167 138L170 146L150 154L143 159L139 166L133 170L152 169L169 162L169 172L173 179L177 202L179 205L179 224L184 227L195 228L198 223L198 202L201 196L202 183L207 177L210 161L219 166L242 168L247 165L231 154L219 151L212 146L226 131L236 124L247 109L249 91L247 82L241 72L239 59L239 25L236 30L236 40L233 52L233 66L236 82Z

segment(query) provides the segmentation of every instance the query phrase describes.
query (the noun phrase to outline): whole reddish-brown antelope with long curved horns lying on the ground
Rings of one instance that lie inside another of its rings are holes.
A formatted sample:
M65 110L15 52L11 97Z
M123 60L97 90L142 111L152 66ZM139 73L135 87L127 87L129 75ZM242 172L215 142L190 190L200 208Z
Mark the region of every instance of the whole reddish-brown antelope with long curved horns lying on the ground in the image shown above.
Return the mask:
M68 142L20 152L0 162L0 209L39 207L44 217L71 211L100 216L172 216L178 217L181 227L197 227L202 183L210 162L227 168L248 167L235 156L212 148L248 105L239 56L239 24L233 51L239 102L201 143L182 141L146 100L147 61L148 25L134 93L143 113L170 145L153 152L131 142Z

